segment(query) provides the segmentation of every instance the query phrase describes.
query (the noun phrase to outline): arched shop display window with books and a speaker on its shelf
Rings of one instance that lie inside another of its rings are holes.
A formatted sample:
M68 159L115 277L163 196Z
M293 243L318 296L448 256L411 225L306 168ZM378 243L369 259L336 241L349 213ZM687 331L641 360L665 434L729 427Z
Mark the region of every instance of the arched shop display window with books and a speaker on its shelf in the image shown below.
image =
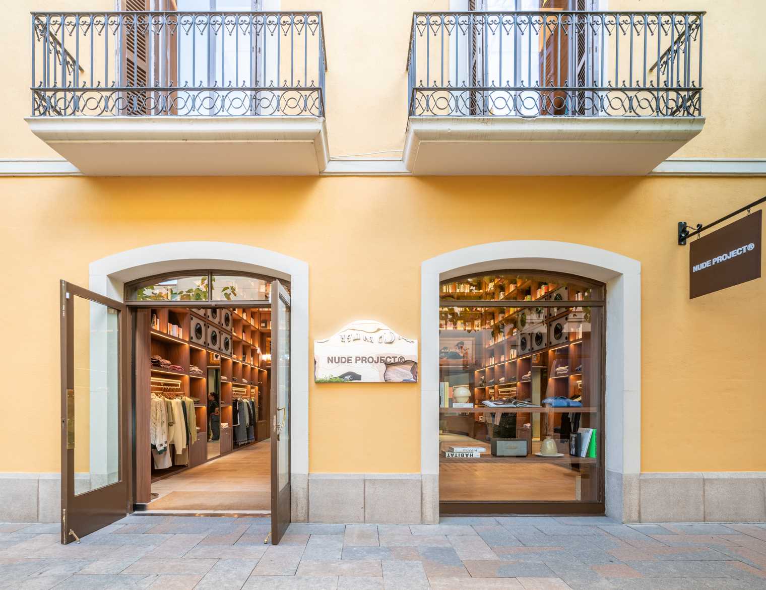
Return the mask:
M441 502L603 501L602 294L517 274L443 284Z

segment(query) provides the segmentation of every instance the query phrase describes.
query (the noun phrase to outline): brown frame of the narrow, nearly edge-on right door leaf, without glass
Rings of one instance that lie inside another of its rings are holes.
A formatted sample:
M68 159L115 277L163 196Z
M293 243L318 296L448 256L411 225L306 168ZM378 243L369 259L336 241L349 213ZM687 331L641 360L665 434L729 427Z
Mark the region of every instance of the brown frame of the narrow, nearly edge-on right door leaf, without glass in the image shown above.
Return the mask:
M283 534L290 526L292 515L290 513L290 497L292 495L290 481L290 444L287 444L287 484L283 490L279 489L279 436L281 431L280 411L285 415L283 420L287 424L287 435L292 435L290 419L290 392L292 383L287 388L286 401L283 408L279 407L279 300L286 305L288 312L292 313L290 294L286 292L279 280L273 280L271 284L271 542L278 545ZM290 318L292 320L292 317ZM290 326L292 326L292 321ZM288 343L292 339L288 336ZM290 371L288 370L288 375ZM285 517L286 516L286 517Z

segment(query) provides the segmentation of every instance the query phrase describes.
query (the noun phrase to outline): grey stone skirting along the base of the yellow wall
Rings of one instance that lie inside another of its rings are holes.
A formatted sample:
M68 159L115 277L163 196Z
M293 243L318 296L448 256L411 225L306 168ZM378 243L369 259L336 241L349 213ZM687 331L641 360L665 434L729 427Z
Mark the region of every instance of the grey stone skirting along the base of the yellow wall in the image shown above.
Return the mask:
M293 522L437 523L439 478L292 474ZM607 515L634 523L766 521L766 472L607 471ZM61 520L59 474L0 473L0 522Z

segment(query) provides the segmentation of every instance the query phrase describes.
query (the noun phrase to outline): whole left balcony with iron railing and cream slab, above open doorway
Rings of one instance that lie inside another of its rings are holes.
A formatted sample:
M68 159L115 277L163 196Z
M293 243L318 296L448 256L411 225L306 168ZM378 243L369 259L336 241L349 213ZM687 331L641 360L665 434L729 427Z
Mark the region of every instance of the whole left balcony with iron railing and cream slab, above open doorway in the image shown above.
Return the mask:
M321 12L32 14L31 131L86 175L316 175Z

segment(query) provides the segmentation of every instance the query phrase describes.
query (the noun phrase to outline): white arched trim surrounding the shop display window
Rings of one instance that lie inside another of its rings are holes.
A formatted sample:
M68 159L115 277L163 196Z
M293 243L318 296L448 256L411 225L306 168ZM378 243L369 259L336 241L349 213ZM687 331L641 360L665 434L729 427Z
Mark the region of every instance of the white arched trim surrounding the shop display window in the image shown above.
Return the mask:
M635 522L641 469L641 265L600 248L545 240L465 247L421 266L421 471L435 487L430 497L424 495L424 513L438 514L439 283L507 268L578 274L607 285L606 511Z

